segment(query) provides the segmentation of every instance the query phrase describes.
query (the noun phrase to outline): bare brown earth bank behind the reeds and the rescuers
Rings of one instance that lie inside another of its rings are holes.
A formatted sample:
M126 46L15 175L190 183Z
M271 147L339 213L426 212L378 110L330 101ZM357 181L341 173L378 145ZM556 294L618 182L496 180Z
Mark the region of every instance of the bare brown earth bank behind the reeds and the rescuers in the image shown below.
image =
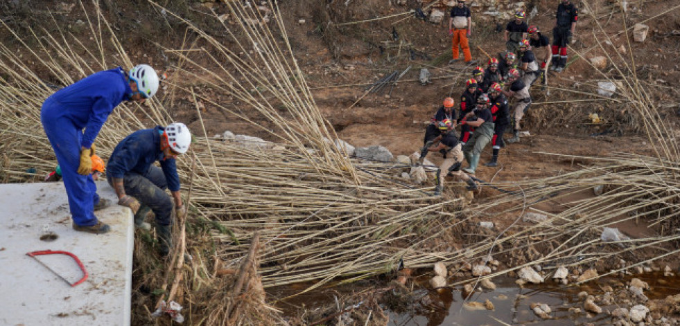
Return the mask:
M21 33L28 33L29 26L37 30L44 27L47 32L55 26L60 26L71 33L85 30L82 24L85 16L77 10L77 6L73 8L71 3L28 2L30 3L3 2L0 4L2 9L0 19ZM166 2L161 4L183 17L200 21L198 24L202 24L203 28L216 30L216 35L224 34L219 32L221 26L204 19L211 10L218 15L227 12L224 3ZM650 19L677 5L673 0L634 1L624 18L611 3L607 1L594 3L600 24L604 25L604 30L609 35L618 33L623 24L632 26L638 21ZM549 31L557 1L530 1L527 5L530 8L537 6L538 12L530 24L536 24L542 30ZM89 3L85 3L84 6L86 10L92 10ZM149 62L159 70L173 71L173 66L177 64L176 60L168 57L156 44L179 48L183 38L186 37L183 24L170 18L162 18L163 15L159 15L158 10L143 1L107 0L102 1L102 6L108 11L110 22L113 28L119 31L120 38L128 42L125 46L129 48L128 52L132 54L133 60ZM305 0L279 3L290 44L305 74L306 82L313 90L317 106L333 125L338 136L351 145L383 145L394 155L411 154L422 145L425 123L439 107L443 98L448 96L457 98L463 91L464 76L461 74L468 73L470 67L460 62L448 64L451 44L444 24L432 24L415 19L412 15L402 15L361 24L334 25L393 15L418 6L419 3L416 1L406 1L406 5L399 6L394 1L378 0L360 2ZM54 17L57 24L49 26L42 24L48 17ZM486 62L484 54L477 46L491 54L502 51L503 36L502 33L496 32L496 24L505 25L505 22L482 17L480 12L473 12L471 48L473 59ZM593 85L603 78L594 73L586 60L604 53L596 46L593 35L602 36L602 33L593 23L593 17L590 15L582 15L579 19L576 42L572 46L576 51L586 53L585 58L575 60L564 73L550 73L551 87L595 93ZM680 57L678 46L680 39L674 31L680 30L680 10L672 10L665 13L662 18L651 19L645 24L650 26L649 37L643 43L631 43L627 55L634 58L634 67L640 82L655 90L654 100L659 105L661 118L672 129L677 130L680 123L677 115L680 98L676 87L676 81L680 79L680 67L677 62L677 58ZM398 37L394 37L394 32ZM549 32L545 34L551 36ZM5 29L0 28L0 37L3 44L9 46L17 42ZM228 37L226 35L223 37L225 42L228 42ZM189 33L189 39L195 40L196 35ZM626 38L622 34L612 37L611 43L613 44L611 48L627 46ZM201 42L198 41L196 46L200 45ZM411 51L417 54L415 60L411 60ZM26 56L28 57L28 53ZM571 51L570 60L576 57ZM621 64L620 60L615 60ZM407 66L412 66L412 69L392 90L382 94L365 95L365 89L369 84L392 71L403 71ZM432 73L431 84L423 86L417 82L421 67L427 67ZM55 82L51 80L49 71L44 67L36 65L36 69L44 72L44 80ZM609 75L618 74L611 64L604 71ZM205 89L191 78L175 82L184 87L194 87L202 96L210 96L209 89ZM532 109L523 120L523 129L530 132L531 136L523 137L520 143L507 145L501 150L498 167L480 166L478 170L480 179L521 181L555 176L577 170L579 164L584 163L540 153L582 156L605 156L613 152L653 154L650 140L641 129L640 120L628 107L602 100L570 102L593 99L593 96L560 91L557 88L550 89L550 95L540 87L532 88L532 96L537 103L532 105ZM233 98L213 100L238 106ZM173 103L174 105L167 107L173 118L186 123L193 130L201 129L191 100L178 98ZM247 107L241 109L248 111ZM604 117L605 123L593 125L588 118L590 113L600 114ZM210 105L205 105L202 118L205 122L206 136L222 134L229 130L236 134L270 138L268 134L253 129L243 120ZM490 156L489 147L482 156L482 163ZM433 161L438 163L437 159ZM568 207L572 199L589 196L593 194L583 192L570 198L541 203L537 208L546 212L559 212ZM482 195L476 200L484 199L485 196ZM516 219L514 215L500 216L494 222L499 228L503 228L514 219ZM646 236L655 232L654 229L647 228L645 221L627 222L618 227L631 237ZM659 264L668 264L677 270L680 260L678 257L670 257Z

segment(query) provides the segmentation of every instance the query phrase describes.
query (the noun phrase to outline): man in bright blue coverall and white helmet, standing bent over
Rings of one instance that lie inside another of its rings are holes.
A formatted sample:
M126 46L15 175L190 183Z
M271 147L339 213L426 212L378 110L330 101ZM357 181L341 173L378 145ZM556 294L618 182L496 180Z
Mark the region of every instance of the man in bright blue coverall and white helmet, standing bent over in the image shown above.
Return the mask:
M94 140L114 107L123 100L143 103L155 95L159 84L157 73L146 64L130 73L117 67L64 87L42 104L40 120L61 167L74 230L96 234L110 230L94 216L94 206L101 201L91 175Z

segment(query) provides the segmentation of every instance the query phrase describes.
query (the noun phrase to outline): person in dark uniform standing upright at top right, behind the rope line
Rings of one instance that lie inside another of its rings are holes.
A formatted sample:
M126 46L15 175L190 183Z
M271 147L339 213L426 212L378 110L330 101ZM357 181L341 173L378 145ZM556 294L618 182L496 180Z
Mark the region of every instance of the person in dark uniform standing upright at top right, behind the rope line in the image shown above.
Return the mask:
M552 28L552 66L550 70L560 73L566 67L566 47L574 35L578 9L569 0L562 0L557 6L555 28Z

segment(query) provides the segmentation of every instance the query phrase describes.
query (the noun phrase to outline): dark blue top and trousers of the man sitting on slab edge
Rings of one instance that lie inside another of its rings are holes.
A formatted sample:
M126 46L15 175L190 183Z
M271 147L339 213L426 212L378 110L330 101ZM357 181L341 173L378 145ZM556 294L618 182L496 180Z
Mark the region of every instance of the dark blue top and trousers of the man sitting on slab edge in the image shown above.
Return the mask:
M149 206L156 215L156 223L168 226L172 223L173 201L165 190L180 191L175 159L166 159L161 150L164 128L142 129L121 141L109 157L106 176L123 179L125 194ZM153 163L159 161L161 167Z

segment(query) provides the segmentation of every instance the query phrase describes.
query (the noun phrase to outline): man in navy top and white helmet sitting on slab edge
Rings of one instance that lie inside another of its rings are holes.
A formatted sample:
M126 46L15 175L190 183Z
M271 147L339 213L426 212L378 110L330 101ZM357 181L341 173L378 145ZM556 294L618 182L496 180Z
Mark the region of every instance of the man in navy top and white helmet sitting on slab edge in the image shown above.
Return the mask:
M184 212L175 159L186 153L189 145L191 132L182 123L142 129L116 145L107 164L107 181L116 191L119 205L134 213L134 224L142 227L148 210L153 211L162 255L168 255L173 246L173 199L176 212ZM156 161L160 167L153 165Z

